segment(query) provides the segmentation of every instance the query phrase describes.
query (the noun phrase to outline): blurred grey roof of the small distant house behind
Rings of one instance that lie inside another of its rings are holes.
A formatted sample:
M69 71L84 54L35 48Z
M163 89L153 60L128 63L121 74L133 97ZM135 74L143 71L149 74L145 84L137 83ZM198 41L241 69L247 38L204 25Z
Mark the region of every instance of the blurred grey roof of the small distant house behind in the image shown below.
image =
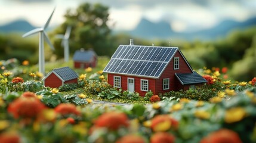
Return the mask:
M95 52L92 50L77 50L73 56L74 61L91 61L95 56Z

